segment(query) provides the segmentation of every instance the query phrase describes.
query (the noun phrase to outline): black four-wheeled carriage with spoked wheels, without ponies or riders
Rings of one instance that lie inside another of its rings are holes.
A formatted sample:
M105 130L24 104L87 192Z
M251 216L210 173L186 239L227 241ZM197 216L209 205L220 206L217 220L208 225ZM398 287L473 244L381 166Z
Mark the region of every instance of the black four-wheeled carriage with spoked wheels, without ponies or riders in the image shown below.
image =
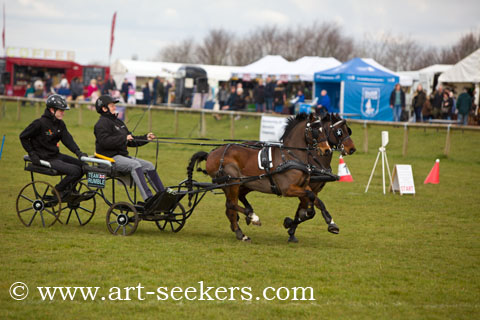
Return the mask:
M55 188L46 181L35 179L35 175L60 176L50 168L50 163L41 160L35 165L28 156L24 157L24 169L30 172L31 182L18 194L16 209L20 221L27 227L39 224L50 227L56 222L69 224L78 222L80 226L89 223L97 209L96 198L108 205L106 224L114 235L131 235L141 220L154 221L160 230L180 231L198 202L209 190L208 184L194 183L193 204L188 210L181 203L188 193L185 182L166 188L157 193L148 203L137 200L136 185L128 175L115 170L115 163L97 157L82 157L85 163L85 178L80 180L65 198L61 198ZM108 194L104 188L110 185ZM126 201L118 201L117 189L124 193ZM133 190L132 190L133 189Z

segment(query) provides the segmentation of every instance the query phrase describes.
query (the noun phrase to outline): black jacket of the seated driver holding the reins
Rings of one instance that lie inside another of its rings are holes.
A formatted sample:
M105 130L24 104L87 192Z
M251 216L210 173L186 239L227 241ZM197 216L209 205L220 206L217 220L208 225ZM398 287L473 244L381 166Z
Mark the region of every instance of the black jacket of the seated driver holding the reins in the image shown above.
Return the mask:
M133 136L134 139L145 141L128 141L127 136L132 134L125 123L110 112L102 113L94 128L95 152L114 157L128 156L127 147L140 147L147 143L147 135Z

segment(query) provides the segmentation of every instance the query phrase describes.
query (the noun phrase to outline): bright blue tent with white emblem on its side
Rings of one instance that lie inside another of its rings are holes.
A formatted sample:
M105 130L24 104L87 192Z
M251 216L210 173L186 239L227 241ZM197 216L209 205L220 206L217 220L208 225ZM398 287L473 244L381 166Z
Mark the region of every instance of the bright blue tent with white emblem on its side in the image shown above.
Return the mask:
M368 60L367 60L368 61ZM354 58L342 65L315 73L315 96L326 90L329 111L369 120L392 120L390 94L399 77L384 67Z

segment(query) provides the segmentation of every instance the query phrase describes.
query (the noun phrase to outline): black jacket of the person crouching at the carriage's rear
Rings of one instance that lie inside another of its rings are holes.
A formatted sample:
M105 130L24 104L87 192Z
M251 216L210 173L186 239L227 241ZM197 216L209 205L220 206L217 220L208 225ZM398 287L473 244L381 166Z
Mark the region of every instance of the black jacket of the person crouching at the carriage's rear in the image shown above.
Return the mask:
M55 118L49 109L45 109L39 119L34 120L20 133L20 141L28 154L36 154L44 160L53 159L60 153L57 146L59 141L77 156L81 154L65 122Z

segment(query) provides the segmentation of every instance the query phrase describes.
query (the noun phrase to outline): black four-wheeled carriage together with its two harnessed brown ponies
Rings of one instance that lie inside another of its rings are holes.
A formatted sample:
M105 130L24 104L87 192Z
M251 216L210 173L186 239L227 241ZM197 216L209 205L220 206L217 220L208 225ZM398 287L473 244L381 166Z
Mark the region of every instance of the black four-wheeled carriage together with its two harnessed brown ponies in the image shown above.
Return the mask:
M106 224L114 235L133 234L141 220L154 221L160 230L178 232L208 191L222 189L227 198L231 229L237 239L245 241L250 239L238 226L237 212L245 214L247 224L260 225L258 216L246 200L249 192L260 191L300 199L294 219L287 217L284 220L289 241L296 241L294 234L300 223L313 218L314 206L321 210L328 231L338 233L337 225L317 193L326 182L338 179L330 168L332 148L343 154L355 151L350 134L345 120L339 117L329 115L328 119L318 119L314 114L301 114L290 118L280 144L238 140L230 140L227 144L199 143L216 148L210 153L193 155L187 170L188 178L157 193L147 203L137 200L135 184L127 179L128 175L117 172L113 159L100 155L82 157L86 177L62 199L50 183L37 181L34 176L58 176L59 173L49 168L48 162L34 165L25 156L24 169L30 172L31 182L17 197L17 215L27 227L35 222L49 227L57 221L68 224L71 220L77 220L83 226L93 218L96 197L100 197L109 207ZM199 171L209 174L212 183L196 182L192 177L194 166L203 160L207 161L206 169ZM111 194L104 191L109 183ZM125 201L118 201L117 189L122 190ZM238 200L245 207L240 207Z

